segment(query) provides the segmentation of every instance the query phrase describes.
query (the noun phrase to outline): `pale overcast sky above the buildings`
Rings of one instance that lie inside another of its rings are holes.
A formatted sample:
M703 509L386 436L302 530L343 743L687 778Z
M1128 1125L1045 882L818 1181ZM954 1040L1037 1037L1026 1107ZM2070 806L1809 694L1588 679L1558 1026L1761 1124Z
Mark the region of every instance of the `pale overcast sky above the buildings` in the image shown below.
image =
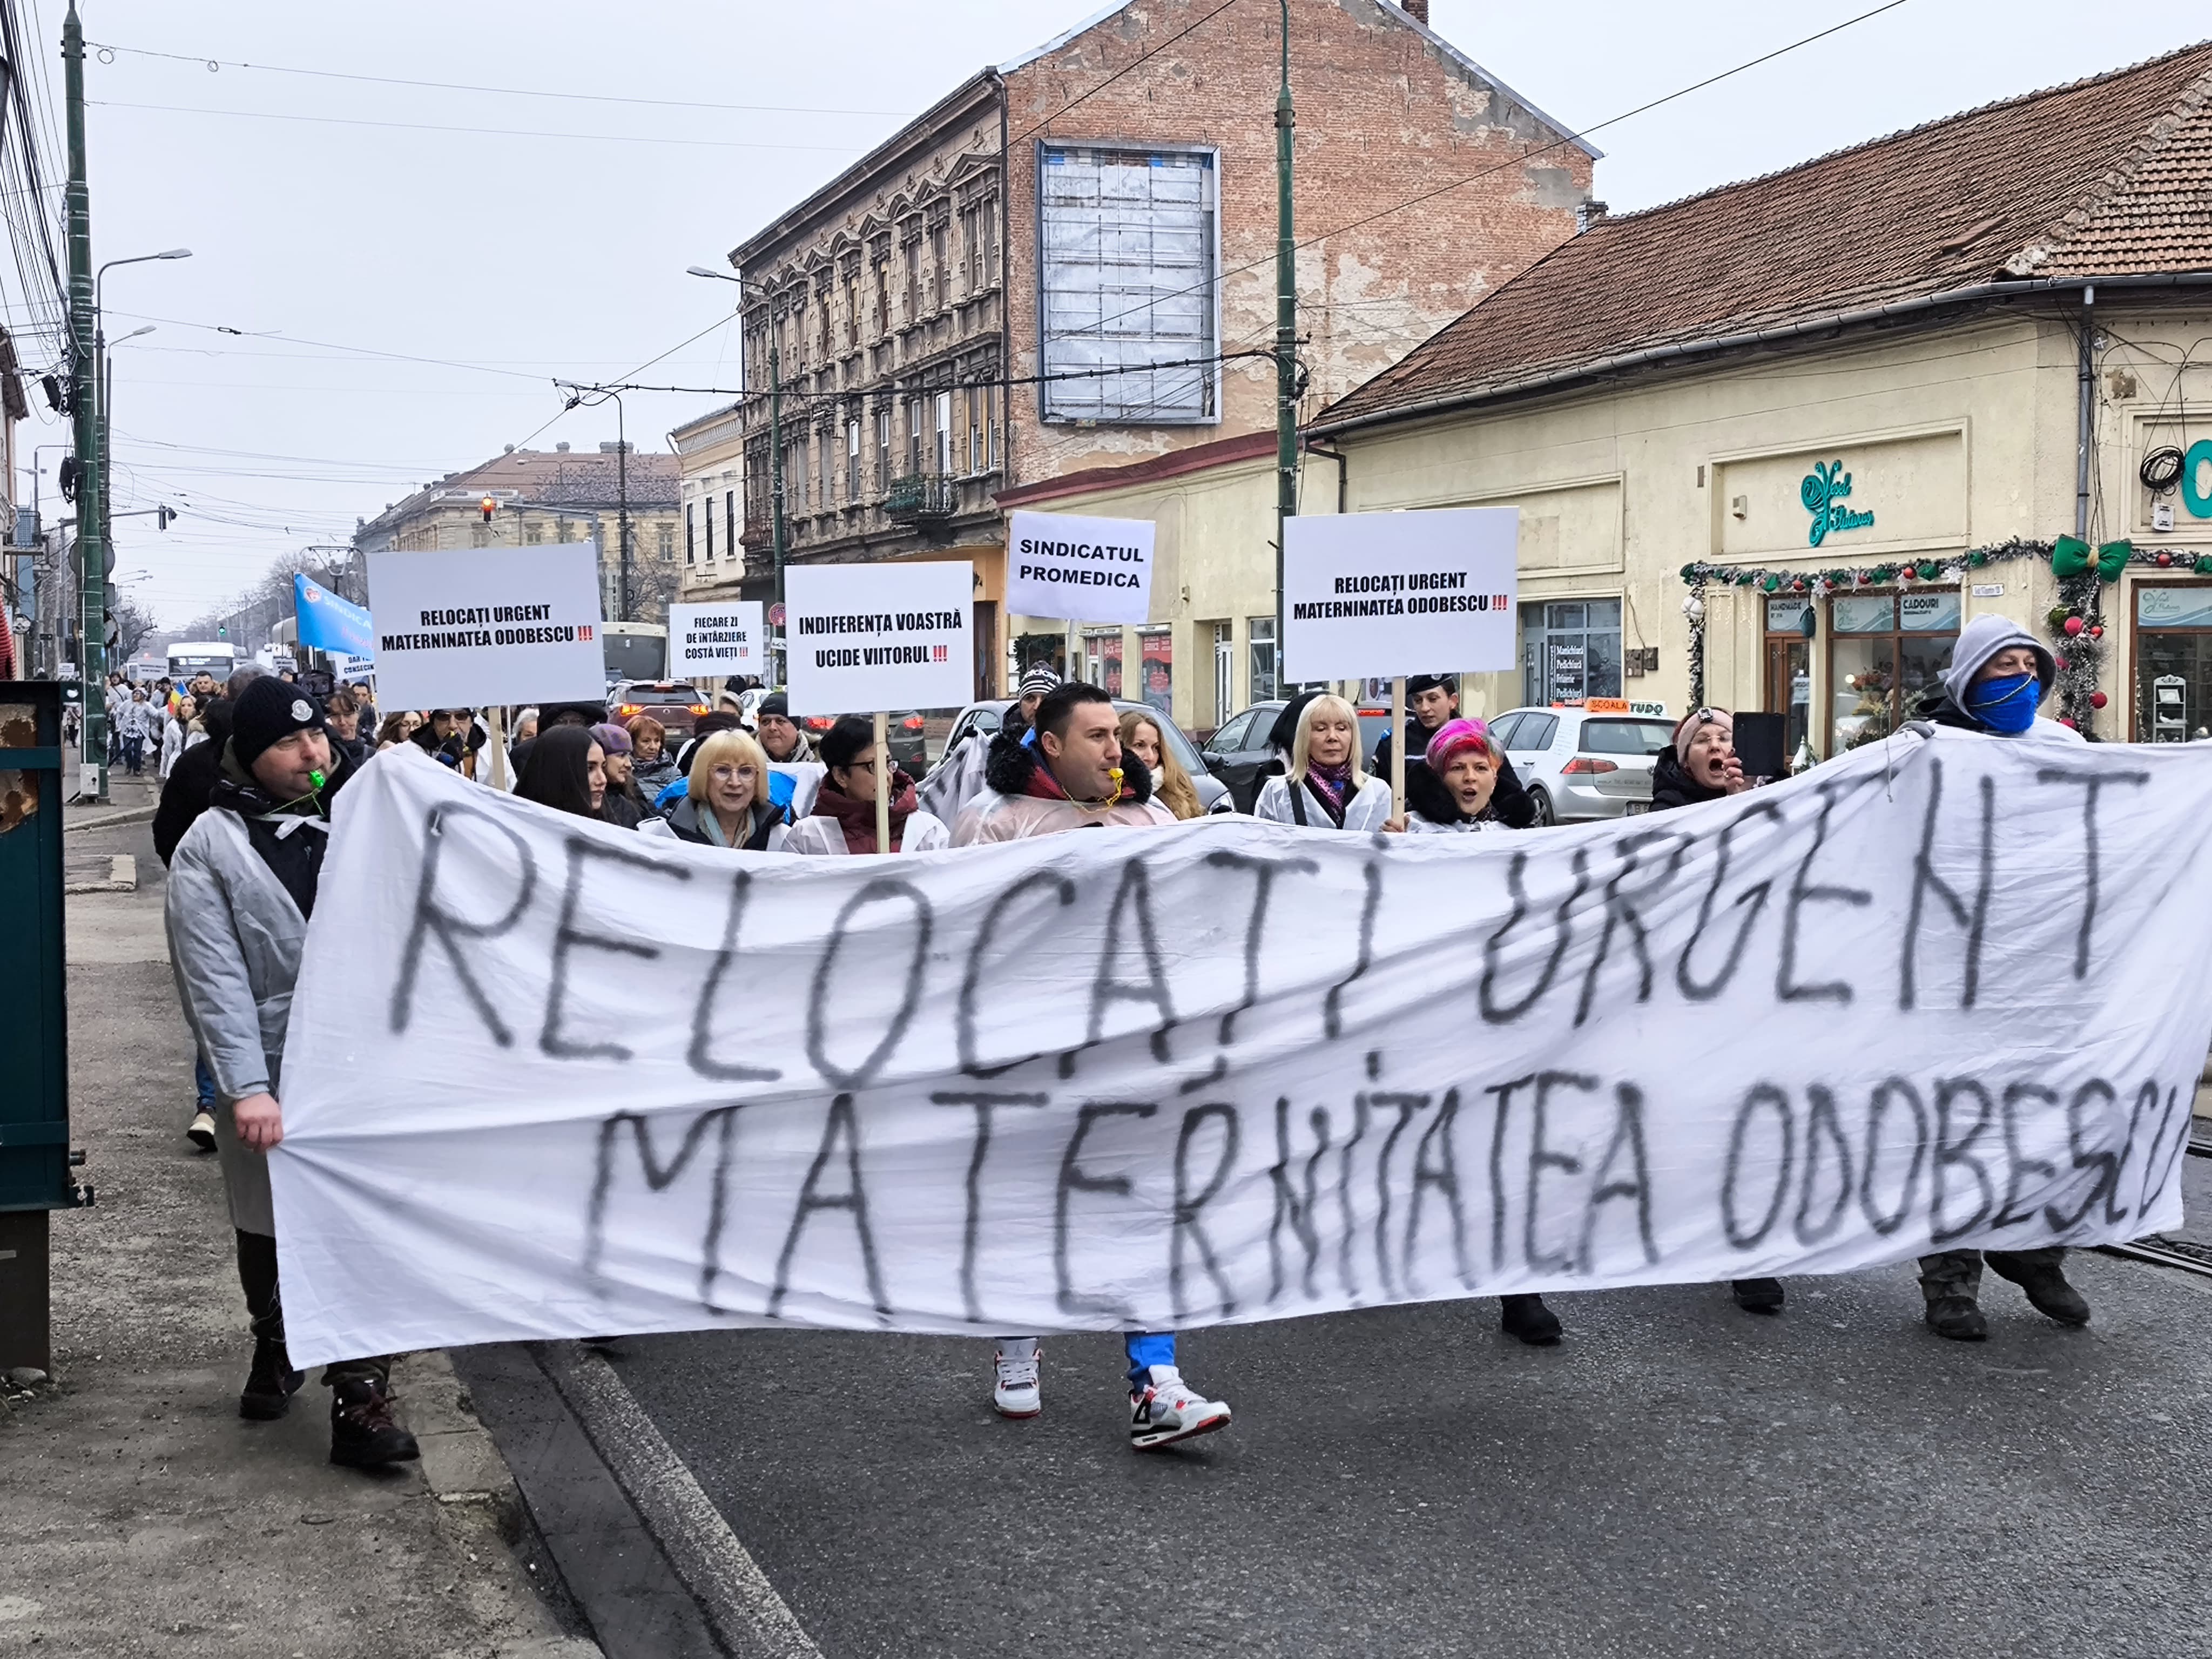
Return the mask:
M1433 18L1548 115L1590 126L1869 4L1436 0ZM58 100L62 0L24 7ZM86 64L95 259L195 254L108 274L108 338L155 325L115 349L115 507L186 513L166 535L117 522L119 575L150 573L133 591L181 626L276 553L345 542L356 518L502 445L615 436L611 407L562 416L549 376L617 378L703 332L644 378L734 387L734 327L719 319L737 290L684 268L721 265L900 115L1097 9L82 0L86 35L117 49ZM2201 0L1907 0L1608 126L1597 192L1626 210L1767 173L2170 51L2208 33L2205 15ZM4 299L20 323L13 276ZM51 349L24 343L27 358ZM27 453L66 436L38 403ZM664 449L672 422L712 403L630 394L630 438ZM40 456L49 511L58 458Z

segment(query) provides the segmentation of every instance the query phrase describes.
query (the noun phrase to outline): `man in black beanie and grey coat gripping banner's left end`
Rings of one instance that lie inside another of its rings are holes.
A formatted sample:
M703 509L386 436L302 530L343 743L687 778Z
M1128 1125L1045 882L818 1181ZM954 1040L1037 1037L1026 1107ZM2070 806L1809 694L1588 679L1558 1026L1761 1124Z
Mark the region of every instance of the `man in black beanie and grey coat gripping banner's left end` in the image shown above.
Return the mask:
M168 960L215 1075L217 1150L254 1332L239 1416L261 1422L290 1411L307 1380L283 1343L265 1155L283 1139L276 1088L285 1020L323 874L330 801L347 776L345 754L323 730L323 706L299 686L254 679L232 708L221 779L168 867ZM332 1462L376 1469L418 1455L414 1436L392 1418L389 1371L389 1358L323 1369Z

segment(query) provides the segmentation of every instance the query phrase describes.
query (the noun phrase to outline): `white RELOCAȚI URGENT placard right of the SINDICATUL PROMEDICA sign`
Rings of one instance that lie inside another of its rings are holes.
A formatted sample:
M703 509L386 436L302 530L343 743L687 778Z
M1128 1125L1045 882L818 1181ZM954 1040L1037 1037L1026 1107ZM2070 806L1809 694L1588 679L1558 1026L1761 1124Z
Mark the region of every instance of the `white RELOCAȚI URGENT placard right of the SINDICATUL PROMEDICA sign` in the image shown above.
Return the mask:
M1338 513L1283 524L1292 681L1520 666L1517 507Z

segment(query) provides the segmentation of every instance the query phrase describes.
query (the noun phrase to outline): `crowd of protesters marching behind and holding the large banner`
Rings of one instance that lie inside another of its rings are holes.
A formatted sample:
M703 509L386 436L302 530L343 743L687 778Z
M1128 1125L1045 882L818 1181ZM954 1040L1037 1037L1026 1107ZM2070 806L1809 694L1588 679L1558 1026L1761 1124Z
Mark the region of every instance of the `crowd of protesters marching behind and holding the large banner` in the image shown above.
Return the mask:
M1978 617L1918 714L2008 739L2081 741L2035 712L2055 672L2051 650L2028 633ZM411 743L476 785L734 856L920 854L1093 825L1155 830L1201 812L1157 714L1119 712L1104 690L1062 684L1042 666L1024 672L998 730L956 743L920 783L878 743L869 719L843 717L810 734L781 692L721 697L684 734L648 714L611 721L602 703L524 708L509 723L504 754L489 710L380 717L356 688L325 701L252 668L223 686L199 675L186 686L115 692L122 763L137 770L150 752L164 779L153 836L170 865L170 960L199 1048L188 1133L223 1166L254 1336L239 1398L248 1418L283 1416L305 1380L283 1345L261 1155L283 1135L283 1026L330 805L378 752ZM1411 719L1380 739L1371 761L1360 754L1358 710L1332 692L1294 697L1270 743L1276 765L1254 807L1261 821L1416 836L1537 825L1511 759L1482 719L1460 712L1449 675L1413 681ZM1407 757L1402 805L1387 781L1391 745ZM1759 783L1765 779L1747 779L1734 754L1730 712L1699 708L1655 757L1650 805L1692 807ZM887 841L878 799L887 801ZM1984 1265L2051 1318L2088 1323L2088 1303L2066 1281L2062 1256L2057 1248L1924 1256L1929 1327L1955 1340L1986 1334L1978 1301ZM1745 1312L1783 1312L1774 1279L1730 1290ZM1535 1294L1504 1296L1500 1321L1524 1343L1562 1338L1557 1314ZM1130 1332L1126 1360L1133 1447L1164 1447L1230 1422L1223 1400L1183 1380L1172 1332ZM332 1389L334 1462L376 1467L416 1455L414 1438L392 1416L389 1358L332 1365L323 1380ZM995 1340L991 1400L1009 1418L1042 1411L1035 1336Z

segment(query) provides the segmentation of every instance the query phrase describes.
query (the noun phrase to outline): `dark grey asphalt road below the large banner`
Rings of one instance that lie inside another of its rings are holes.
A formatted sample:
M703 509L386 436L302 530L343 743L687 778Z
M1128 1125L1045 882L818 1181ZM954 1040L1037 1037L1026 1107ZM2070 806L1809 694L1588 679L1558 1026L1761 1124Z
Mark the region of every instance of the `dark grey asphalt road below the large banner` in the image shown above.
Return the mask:
M2203 1194L2212 1161L2188 1159ZM2212 1197L2212 1194L2208 1194ZM1909 1267L1203 1332L1237 1407L1126 1447L1119 1343L637 1338L619 1371L827 1659L860 1655L2212 1655L2212 1281L2075 1256L2068 1332Z

